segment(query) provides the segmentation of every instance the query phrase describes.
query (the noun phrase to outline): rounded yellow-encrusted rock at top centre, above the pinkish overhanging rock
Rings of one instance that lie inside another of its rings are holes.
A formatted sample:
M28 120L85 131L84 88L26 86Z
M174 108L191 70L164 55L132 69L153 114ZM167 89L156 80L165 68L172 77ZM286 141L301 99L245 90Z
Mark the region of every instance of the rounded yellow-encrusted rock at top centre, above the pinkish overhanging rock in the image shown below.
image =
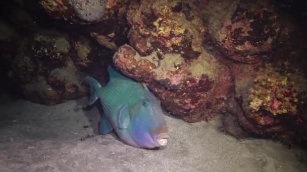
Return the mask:
M187 15L182 6L191 9L191 14ZM141 55L148 55L150 51L144 54L139 46L152 47L159 54L180 53L185 58L197 58L202 51L206 27L192 8L196 9L191 2L181 1L131 3L127 13L130 45ZM134 35L143 41L136 44Z

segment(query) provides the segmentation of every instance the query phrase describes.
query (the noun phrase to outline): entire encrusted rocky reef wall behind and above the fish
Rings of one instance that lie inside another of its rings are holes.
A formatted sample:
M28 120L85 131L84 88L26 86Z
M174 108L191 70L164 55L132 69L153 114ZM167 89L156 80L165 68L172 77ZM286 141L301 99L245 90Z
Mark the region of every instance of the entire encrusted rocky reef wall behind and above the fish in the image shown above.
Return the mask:
M269 3L2 2L2 77L7 85L16 83L25 99L53 105L87 95L84 75L104 84L113 62L187 122L222 113L224 131L237 138L252 134L303 144L304 29L297 31L294 20L281 19Z

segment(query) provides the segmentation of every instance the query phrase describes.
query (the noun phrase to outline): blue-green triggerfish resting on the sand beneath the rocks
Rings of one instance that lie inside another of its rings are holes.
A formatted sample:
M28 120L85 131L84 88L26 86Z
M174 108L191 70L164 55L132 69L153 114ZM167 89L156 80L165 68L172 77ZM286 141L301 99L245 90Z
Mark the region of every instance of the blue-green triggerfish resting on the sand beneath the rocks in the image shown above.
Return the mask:
M108 67L110 81L105 87L92 77L85 77L89 84L88 105L100 99L104 114L100 116L99 133L115 131L126 144L139 148L165 146L168 129L160 101L140 84Z

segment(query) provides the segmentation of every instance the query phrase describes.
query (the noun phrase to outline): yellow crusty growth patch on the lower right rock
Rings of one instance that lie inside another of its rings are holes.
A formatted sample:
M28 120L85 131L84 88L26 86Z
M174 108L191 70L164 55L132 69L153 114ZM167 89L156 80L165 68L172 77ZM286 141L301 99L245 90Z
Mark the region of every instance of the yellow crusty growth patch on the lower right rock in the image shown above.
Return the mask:
M295 115L297 93L293 83L287 76L275 72L271 66L266 66L263 70L263 75L254 79L250 89L249 107L252 112L262 109L273 115Z

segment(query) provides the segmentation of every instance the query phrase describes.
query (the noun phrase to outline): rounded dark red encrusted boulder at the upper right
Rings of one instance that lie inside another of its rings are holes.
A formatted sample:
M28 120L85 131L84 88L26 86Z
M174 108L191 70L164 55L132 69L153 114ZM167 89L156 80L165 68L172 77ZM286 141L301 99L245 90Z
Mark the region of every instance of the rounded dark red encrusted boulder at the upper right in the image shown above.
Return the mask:
M266 1L210 1L203 18L221 51L244 63L259 62L280 32L277 14Z

